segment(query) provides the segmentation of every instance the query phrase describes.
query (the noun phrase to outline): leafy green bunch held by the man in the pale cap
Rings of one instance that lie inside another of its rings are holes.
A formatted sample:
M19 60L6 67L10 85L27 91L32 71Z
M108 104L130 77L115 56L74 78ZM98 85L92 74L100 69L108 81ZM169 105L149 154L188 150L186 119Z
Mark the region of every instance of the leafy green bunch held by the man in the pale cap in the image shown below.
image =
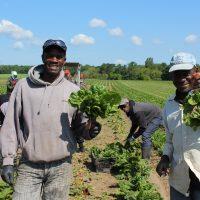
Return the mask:
M196 130L200 126L200 92L190 93L183 104L183 121Z

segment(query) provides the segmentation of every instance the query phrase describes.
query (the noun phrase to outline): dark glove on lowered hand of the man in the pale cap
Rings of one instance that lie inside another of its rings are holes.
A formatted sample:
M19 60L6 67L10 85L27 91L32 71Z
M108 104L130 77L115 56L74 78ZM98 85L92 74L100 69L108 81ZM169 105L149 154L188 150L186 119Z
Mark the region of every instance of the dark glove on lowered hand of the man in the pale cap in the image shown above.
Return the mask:
M159 176L166 176L169 174L169 163L169 157L167 155L163 155L156 167L156 172Z

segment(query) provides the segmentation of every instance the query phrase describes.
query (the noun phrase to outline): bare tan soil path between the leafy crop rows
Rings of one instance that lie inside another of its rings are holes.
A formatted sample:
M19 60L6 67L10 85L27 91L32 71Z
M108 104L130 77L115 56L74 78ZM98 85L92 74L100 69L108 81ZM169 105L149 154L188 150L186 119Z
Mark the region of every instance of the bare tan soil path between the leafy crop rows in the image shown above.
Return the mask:
M101 120L102 131L95 139L86 141L86 148L90 149L92 146L104 148L107 144L115 141L115 135L105 120ZM127 131L129 130L129 121L125 121L127 124ZM120 135L120 140L123 141L125 135ZM161 194L164 200L169 200L169 189L166 178L160 178L155 167L158 163L158 156L154 154L151 159L152 172L150 176L150 182L154 183L157 190ZM70 200L114 200L113 194L117 191L117 180L109 173L96 173L91 165L91 159L89 157L89 151L84 153L77 153L74 156L74 183L73 188L78 188L71 196ZM81 191L82 190L82 191Z

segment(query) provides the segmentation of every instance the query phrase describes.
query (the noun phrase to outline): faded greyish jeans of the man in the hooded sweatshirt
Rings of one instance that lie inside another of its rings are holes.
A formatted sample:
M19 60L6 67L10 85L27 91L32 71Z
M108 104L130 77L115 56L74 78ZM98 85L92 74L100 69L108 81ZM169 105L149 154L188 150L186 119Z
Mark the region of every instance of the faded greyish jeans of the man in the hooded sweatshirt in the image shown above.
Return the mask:
M71 159L19 165L13 200L67 200L72 179Z

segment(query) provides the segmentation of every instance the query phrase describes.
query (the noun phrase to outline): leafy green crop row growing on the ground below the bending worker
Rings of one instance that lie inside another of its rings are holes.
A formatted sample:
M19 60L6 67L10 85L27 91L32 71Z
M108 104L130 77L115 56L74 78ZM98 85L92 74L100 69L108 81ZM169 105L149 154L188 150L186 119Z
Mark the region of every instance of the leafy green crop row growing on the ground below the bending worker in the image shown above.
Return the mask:
M156 188L149 183L150 166L141 159L141 144L132 142L125 148L120 142L108 144L104 149L92 147L91 153L96 158L114 160L112 174L118 179L117 199L161 200Z

